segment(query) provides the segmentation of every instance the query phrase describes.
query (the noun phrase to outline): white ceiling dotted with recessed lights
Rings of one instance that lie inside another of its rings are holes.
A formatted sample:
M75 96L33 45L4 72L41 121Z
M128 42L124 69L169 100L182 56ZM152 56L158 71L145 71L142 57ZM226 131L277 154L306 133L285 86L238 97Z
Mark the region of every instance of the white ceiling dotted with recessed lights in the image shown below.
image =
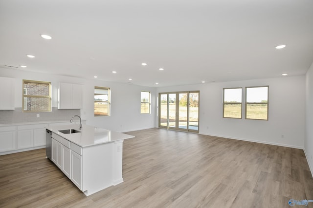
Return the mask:
M0 0L0 67L159 87L312 62L313 0Z

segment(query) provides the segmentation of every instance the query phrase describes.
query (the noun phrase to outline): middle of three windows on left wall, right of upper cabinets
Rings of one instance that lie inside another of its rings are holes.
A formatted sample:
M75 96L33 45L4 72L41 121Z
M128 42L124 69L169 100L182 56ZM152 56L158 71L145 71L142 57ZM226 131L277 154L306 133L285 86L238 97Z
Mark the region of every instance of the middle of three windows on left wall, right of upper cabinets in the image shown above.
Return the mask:
M110 115L110 88L94 87L94 116Z

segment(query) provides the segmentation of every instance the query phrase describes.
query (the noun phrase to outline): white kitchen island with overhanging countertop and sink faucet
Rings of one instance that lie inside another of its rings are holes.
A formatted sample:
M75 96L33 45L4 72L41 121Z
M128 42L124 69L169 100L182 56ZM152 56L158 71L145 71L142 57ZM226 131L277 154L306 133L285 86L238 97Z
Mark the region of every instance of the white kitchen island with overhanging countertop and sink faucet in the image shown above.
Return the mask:
M52 132L51 161L86 196L123 182L123 141L134 136L89 125L46 129Z

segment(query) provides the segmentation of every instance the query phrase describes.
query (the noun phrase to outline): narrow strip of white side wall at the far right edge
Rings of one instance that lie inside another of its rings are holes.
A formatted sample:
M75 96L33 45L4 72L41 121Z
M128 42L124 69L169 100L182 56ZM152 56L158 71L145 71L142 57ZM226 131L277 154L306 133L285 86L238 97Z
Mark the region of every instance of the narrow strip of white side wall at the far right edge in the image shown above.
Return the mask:
M313 172L313 63L306 74L306 136L304 152L311 172Z

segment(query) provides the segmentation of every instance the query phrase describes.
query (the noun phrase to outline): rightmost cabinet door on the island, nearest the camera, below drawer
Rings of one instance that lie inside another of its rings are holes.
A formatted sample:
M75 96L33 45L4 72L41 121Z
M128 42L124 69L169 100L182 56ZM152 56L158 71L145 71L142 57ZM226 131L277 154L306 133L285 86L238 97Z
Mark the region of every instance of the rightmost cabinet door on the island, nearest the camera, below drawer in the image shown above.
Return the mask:
M71 181L82 190L82 156L71 151Z

